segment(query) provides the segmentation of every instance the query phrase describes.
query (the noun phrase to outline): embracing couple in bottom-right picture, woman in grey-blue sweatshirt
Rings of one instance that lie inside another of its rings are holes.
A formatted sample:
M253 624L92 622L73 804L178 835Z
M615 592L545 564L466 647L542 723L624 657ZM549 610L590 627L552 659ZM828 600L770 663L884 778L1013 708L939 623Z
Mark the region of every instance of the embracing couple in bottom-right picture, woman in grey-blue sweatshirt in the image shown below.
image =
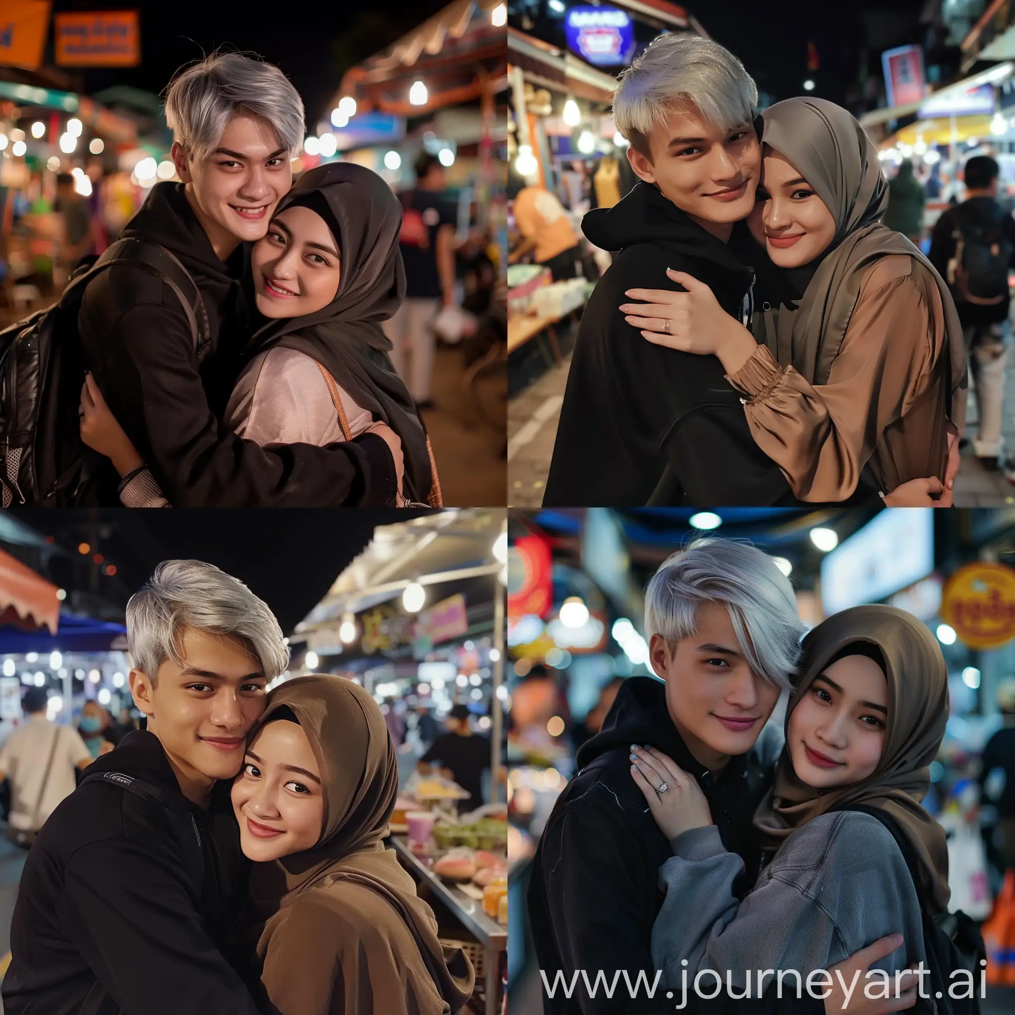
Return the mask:
M922 802L944 659L888 606L802 630L789 580L752 546L700 539L657 571L661 681L624 681L533 868L547 1013L883 1013L933 997L925 915L947 909L947 849ZM765 724L784 690L781 737ZM626 987L642 972L653 998ZM978 967L959 978L950 996L978 996Z

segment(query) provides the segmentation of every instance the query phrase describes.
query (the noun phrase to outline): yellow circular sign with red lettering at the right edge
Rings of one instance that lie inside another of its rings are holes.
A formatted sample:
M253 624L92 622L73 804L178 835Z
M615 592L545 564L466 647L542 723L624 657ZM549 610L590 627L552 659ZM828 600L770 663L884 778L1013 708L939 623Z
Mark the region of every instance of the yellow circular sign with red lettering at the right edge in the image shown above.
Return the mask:
M972 563L948 580L941 616L970 649L996 649L1015 637L1015 570Z

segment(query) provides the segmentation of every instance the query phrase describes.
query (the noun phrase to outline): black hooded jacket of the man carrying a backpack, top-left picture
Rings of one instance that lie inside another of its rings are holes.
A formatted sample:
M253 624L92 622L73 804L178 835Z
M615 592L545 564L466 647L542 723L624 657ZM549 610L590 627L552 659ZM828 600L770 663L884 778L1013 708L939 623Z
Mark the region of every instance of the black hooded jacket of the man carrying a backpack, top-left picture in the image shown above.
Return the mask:
M183 184L156 184L123 238L161 244L201 291L211 342L200 367L179 300L155 276L117 265L88 282L78 315L85 356L110 408L180 507L394 503L395 467L373 433L348 444L261 448L220 430L250 332L244 251L215 255ZM112 466L104 502L119 504Z

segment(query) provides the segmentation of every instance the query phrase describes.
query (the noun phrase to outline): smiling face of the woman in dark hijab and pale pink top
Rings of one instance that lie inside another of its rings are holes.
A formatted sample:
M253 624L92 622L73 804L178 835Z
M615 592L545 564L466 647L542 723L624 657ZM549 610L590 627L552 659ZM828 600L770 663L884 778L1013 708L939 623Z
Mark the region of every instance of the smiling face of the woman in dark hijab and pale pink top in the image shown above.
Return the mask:
M251 253L257 309L269 318L304 317L338 292L338 244L328 223L310 208L280 211Z

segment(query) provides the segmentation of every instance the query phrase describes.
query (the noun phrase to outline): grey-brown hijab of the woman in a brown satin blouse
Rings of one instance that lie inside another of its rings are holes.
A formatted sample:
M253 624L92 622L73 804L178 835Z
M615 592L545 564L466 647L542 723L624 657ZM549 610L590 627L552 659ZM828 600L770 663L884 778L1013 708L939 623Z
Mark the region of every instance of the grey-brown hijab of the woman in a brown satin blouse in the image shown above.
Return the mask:
M888 184L878 152L856 118L823 98L788 98L761 115L762 140L814 188L835 220L835 235L814 266L796 308L755 315L754 331L784 366L810 384L827 384L867 271L882 257L905 255L931 274L941 294L948 341L948 416L965 422L966 365L962 326L944 279L900 232L881 224Z

